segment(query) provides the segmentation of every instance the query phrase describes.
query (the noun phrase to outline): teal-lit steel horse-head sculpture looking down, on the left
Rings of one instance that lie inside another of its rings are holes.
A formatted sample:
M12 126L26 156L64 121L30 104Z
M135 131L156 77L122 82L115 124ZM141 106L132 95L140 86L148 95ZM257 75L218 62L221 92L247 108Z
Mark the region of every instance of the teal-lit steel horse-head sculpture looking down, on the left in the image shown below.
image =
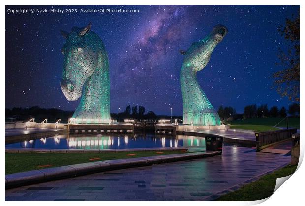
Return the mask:
M73 27L61 31L66 38L61 90L69 101L81 96L73 114L75 123L109 123L110 81L108 54L102 40L92 31Z

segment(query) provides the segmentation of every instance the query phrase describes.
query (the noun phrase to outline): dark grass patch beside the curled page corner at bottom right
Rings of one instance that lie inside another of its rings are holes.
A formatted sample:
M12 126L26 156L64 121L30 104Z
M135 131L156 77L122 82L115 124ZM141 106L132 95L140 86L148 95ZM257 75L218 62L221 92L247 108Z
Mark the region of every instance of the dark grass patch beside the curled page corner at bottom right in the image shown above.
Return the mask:
M296 171L296 169L297 165L288 165L271 174L261 177L257 181L244 185L234 192L223 195L216 199L216 201L251 201L267 198L271 196L274 191L276 178L291 175Z

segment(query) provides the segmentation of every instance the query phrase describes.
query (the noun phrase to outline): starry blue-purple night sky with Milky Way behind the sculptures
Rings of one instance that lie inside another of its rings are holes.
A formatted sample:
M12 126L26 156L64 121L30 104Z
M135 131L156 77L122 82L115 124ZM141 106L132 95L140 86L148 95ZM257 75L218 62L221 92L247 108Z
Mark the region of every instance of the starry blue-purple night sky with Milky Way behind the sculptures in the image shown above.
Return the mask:
M78 13L12 14L7 9L77 9ZM138 9L138 13L80 13L81 9ZM277 31L299 6L142 5L142 6L5 6L5 107L74 110L60 87L65 39L60 30L92 23L105 44L110 63L111 112L143 105L156 114L182 115L180 49L206 37L223 24L228 34L197 78L218 109L248 104L291 103L272 89L271 74L282 68L278 47L286 41Z

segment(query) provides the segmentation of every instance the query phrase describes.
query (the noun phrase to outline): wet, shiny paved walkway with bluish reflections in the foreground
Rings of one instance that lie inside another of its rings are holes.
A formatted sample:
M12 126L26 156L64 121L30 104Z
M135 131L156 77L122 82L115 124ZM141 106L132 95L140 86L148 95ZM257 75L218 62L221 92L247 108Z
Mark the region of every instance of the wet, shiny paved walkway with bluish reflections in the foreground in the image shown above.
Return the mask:
M212 200L288 164L290 155L224 147L221 156L115 170L5 191L6 201Z

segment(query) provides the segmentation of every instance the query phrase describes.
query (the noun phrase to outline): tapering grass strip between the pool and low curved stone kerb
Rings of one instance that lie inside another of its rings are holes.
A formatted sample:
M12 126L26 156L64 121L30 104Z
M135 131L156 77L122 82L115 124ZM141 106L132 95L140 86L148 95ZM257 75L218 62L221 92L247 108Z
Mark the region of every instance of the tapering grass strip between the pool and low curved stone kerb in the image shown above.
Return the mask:
M5 174L85 162L180 153L185 153L185 151L128 151L117 153L5 153Z

